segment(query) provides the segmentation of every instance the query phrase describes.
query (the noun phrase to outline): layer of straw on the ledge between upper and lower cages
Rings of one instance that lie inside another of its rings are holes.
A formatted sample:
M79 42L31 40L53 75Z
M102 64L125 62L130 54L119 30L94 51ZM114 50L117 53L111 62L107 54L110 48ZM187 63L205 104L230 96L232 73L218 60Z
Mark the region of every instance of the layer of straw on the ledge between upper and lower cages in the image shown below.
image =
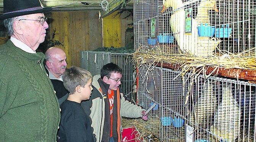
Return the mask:
M138 50L131 54L133 56L133 62L136 67L143 65L155 66L156 63L172 64L179 67L181 71L180 75L183 76L186 73L191 75L203 74L204 77L209 77L215 71L218 71L220 67L224 69L250 69L256 70L256 58L255 57L239 57L240 54L223 54L221 56L211 57L195 57L184 54L165 54L162 50ZM214 70L206 75L208 67L211 66Z

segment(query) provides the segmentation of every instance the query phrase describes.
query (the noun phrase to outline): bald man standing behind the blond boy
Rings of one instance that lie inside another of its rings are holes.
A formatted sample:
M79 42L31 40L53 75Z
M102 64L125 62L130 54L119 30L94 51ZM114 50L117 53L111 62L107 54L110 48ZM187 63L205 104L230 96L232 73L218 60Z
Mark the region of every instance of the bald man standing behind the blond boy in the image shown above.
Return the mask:
M50 47L45 52L45 70L52 81L59 104L68 98L68 91L65 89L62 74L66 71L66 54L58 47Z

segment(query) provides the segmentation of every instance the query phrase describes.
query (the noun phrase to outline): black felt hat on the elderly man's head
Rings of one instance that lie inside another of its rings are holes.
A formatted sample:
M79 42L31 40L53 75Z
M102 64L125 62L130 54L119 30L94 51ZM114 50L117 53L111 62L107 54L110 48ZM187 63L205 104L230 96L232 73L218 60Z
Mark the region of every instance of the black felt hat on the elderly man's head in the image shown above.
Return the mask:
M8 19L12 17L44 13L51 11L52 8L42 8L39 0L4 0L3 14L0 19Z

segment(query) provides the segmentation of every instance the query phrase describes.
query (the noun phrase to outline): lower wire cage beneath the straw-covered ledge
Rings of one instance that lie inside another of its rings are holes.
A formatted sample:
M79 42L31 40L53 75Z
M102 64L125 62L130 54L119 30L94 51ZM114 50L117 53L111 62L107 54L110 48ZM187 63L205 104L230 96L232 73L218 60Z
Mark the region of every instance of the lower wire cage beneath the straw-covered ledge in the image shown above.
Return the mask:
M255 84L146 65L138 73L138 103L157 104L149 119L164 142L256 141Z

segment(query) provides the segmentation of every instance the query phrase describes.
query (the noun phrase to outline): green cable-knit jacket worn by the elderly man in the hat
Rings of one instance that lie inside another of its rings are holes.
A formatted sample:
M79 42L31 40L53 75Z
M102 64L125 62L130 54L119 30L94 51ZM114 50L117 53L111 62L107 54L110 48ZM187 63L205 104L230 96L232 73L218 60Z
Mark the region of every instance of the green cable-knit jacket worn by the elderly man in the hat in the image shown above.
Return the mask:
M56 141L60 109L43 60L10 40L0 46L1 142Z

